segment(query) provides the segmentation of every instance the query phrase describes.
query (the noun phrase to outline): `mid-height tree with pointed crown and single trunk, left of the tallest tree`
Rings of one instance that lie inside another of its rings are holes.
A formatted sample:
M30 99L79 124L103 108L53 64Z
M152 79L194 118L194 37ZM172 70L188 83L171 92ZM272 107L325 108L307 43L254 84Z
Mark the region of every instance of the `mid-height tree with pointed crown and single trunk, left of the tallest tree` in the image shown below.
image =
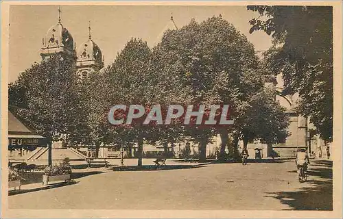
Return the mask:
M152 105L161 105L163 109L172 103L189 103L191 88L175 74L178 64L165 66L159 58L146 42L131 39L104 73L108 84L108 91L104 92L106 102L110 105L143 105L146 109L143 118ZM108 127L108 141L137 142L139 166L142 164L143 141L175 142L183 138L182 127L176 124L178 121L159 126L142 125L141 122Z

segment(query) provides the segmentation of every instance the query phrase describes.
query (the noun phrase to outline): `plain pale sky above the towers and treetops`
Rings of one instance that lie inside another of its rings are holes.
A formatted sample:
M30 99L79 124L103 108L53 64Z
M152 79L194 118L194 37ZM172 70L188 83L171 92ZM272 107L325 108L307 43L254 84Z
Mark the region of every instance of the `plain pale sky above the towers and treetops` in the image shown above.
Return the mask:
M248 22L258 14L246 10L246 6L61 5L61 10L62 25L73 36L77 50L88 40L88 23L91 22L92 39L102 50L105 66L115 60L132 37L142 38L153 47L170 26L171 14L179 28L191 18L201 22L222 14L257 51L265 51L272 45L272 38L262 31L249 34ZM40 62L42 38L57 23L58 5L10 6L9 83L34 62Z

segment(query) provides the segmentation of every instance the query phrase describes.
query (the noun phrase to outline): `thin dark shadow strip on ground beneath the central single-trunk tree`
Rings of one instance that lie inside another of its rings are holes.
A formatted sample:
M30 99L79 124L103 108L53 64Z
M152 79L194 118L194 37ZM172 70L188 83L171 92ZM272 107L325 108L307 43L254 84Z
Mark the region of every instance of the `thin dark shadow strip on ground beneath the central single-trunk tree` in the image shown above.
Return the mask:
M155 166L155 165L143 165L143 166L115 166L114 171L153 171L153 170L178 170L178 169L193 169L200 168L206 164L196 164L196 165L165 165L165 166Z

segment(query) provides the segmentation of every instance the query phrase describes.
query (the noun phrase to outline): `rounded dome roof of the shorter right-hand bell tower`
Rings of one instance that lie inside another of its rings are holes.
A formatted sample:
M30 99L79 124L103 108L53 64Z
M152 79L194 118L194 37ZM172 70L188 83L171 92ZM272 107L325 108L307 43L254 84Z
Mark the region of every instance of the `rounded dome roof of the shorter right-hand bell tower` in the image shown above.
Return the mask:
M94 60L97 63L102 63L102 51L97 44L89 38L78 50L78 61L91 60Z

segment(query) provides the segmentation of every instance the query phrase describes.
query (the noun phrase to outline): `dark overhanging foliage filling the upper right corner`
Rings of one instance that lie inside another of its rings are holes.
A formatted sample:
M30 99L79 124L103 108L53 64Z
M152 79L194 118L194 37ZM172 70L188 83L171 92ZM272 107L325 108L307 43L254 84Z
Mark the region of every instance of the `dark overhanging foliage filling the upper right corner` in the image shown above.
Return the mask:
M320 137L333 135L333 16L332 7L248 6L250 33L272 34L274 47L266 53L270 70L282 73L285 94L298 92L297 112L309 117Z

